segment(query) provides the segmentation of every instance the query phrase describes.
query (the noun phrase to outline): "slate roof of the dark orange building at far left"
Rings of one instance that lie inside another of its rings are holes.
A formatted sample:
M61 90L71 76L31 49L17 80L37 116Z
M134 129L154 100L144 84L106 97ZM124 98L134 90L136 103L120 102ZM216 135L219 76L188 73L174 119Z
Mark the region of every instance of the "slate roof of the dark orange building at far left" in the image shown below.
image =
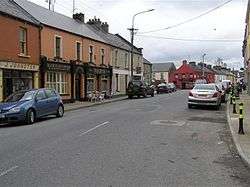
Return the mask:
M35 25L40 24L38 20L11 0L0 0L0 13L19 18Z

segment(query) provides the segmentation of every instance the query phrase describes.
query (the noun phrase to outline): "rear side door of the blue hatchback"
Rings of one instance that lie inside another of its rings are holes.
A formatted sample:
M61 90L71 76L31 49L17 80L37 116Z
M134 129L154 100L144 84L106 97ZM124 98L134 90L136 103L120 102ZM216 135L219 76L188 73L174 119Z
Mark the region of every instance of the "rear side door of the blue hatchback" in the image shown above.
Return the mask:
M47 96L48 113L55 114L58 107L58 96L55 91L51 89L45 89L45 94Z

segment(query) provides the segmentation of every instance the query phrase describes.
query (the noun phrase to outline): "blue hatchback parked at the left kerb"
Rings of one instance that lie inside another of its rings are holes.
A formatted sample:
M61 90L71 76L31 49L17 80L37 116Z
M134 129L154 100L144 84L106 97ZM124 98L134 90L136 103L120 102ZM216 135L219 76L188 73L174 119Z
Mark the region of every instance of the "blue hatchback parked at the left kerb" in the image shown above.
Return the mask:
M32 124L37 118L56 115L63 117L64 106L60 95L52 89L18 91L0 103L0 119L24 121Z

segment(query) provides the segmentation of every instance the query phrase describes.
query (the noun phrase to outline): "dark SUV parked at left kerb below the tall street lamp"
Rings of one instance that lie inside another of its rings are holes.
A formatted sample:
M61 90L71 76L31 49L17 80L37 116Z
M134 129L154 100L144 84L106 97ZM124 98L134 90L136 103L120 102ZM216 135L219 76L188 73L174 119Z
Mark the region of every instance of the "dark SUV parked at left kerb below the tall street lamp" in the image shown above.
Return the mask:
M150 87L146 83L140 80L133 80L128 83L128 88L126 90L128 98L132 99L133 96L143 96L151 95L154 97L154 88Z

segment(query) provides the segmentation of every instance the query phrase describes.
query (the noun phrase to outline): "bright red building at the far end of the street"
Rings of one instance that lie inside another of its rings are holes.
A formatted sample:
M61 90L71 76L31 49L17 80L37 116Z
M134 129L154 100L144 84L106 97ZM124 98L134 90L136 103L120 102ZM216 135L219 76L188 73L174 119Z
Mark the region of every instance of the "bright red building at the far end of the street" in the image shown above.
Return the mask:
M202 69L201 63L196 65L195 62L189 62L188 64L187 61L184 60L181 67L170 74L170 82L173 82L177 88L191 89L197 79L203 78ZM215 73L211 65L204 64L204 79L206 79L208 83L215 81Z

